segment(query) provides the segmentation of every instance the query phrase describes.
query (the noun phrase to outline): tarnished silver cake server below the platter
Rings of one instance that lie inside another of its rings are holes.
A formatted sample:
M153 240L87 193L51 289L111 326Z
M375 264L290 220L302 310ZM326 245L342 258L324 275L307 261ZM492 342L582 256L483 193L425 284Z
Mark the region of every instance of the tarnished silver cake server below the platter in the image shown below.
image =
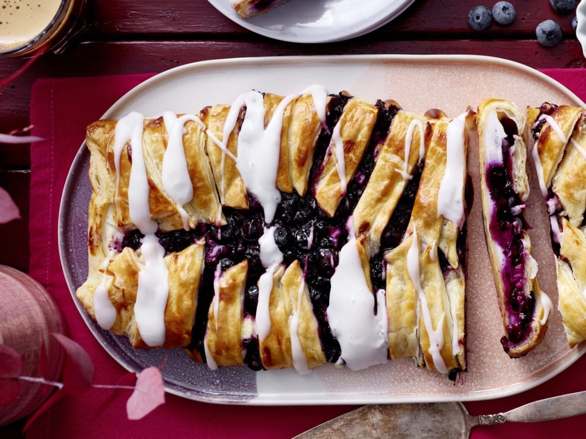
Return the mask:
M542 399L506 413L480 416L468 414L458 402L364 406L295 438L467 438L476 426L550 421L584 413L586 391Z

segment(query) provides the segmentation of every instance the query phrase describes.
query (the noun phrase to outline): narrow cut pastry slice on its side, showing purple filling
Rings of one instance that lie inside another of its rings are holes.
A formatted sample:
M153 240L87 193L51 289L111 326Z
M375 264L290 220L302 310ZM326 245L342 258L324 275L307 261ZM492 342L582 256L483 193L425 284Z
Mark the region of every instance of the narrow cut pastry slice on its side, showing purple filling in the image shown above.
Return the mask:
M488 99L478 107L482 214L511 357L527 354L546 334L551 301L537 282L523 211L529 196L525 117L515 104Z

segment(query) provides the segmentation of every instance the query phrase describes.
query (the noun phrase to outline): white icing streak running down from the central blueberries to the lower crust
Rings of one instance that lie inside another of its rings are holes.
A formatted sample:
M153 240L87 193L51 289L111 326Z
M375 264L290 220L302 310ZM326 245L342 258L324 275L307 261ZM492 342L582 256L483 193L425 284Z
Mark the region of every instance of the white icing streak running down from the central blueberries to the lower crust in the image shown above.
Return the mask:
M258 279L258 304L256 313L256 327L258 340L263 342L271 332L270 299L272 291L272 276L277 267L283 262L283 253L275 243L275 229L277 226L264 228L263 236L258 239L260 245L260 260L267 269Z

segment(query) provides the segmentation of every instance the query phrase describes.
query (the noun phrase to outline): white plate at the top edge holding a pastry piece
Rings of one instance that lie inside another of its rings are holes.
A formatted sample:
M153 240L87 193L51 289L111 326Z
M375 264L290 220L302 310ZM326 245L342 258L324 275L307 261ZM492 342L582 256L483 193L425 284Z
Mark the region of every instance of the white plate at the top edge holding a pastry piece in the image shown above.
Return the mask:
M208 0L243 28L293 43L329 43L369 33L415 0L290 0L252 18L241 18L230 0Z

